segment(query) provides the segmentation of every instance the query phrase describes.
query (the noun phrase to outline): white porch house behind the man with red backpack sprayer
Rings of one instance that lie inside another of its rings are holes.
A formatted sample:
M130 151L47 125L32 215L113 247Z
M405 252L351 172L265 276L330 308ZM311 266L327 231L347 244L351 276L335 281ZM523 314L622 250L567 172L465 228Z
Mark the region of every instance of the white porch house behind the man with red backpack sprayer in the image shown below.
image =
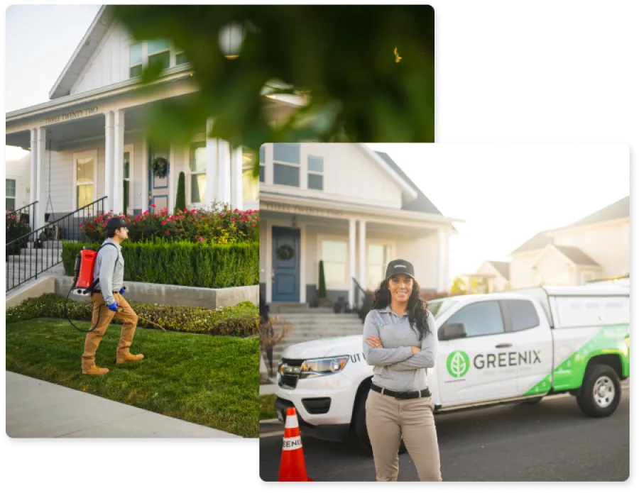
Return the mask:
M198 88L183 53L165 40L134 43L111 9L102 6L49 101L6 113L5 145L31 150L28 201L38 201L35 227L63 214L80 216L77 209L103 196L104 210L115 214L137 214L152 205L173 210L180 172L189 207L219 201L258 209L258 180L246 165L250 155L242 149L231 153L228 143L207 138L210 118L190 145L149 141L142 118L153 104L166 99L179 104ZM151 60L165 66L160 79L153 90L136 90ZM294 106L264 98L273 121ZM168 160L165 176L151 172L155 157ZM45 218L48 204L55 217Z

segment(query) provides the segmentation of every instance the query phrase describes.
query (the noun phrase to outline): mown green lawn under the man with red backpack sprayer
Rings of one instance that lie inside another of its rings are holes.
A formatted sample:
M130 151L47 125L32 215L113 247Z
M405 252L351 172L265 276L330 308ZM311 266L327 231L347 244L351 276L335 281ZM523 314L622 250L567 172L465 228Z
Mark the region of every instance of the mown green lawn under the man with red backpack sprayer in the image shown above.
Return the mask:
M90 323L73 321L80 328ZM121 326L111 325L96 364L107 375L82 375L85 333L66 320L6 325L6 370L82 390L166 416L258 438L259 339L137 328L132 353L116 365Z

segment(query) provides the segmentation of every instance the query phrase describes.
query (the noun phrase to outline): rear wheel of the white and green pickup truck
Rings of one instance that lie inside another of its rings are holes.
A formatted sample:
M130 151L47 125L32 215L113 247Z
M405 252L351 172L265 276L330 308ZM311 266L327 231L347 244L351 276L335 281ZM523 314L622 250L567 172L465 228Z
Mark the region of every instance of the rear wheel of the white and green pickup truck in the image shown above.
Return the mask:
M616 411L621 399L621 384L613 368L591 365L577 394L577 404L586 416L605 418Z

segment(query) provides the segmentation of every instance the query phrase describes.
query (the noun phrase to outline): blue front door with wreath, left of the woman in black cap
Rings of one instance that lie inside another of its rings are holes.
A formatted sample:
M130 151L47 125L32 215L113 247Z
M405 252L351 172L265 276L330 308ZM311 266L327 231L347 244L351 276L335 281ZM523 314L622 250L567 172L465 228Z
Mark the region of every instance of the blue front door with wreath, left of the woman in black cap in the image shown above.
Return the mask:
M300 230L273 226L273 301L300 301Z

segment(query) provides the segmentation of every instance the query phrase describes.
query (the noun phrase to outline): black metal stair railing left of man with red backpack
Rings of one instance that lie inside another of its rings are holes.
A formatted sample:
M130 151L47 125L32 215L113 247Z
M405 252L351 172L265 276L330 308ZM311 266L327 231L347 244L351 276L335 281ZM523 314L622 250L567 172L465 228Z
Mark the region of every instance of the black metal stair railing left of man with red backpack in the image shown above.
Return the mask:
M87 235L80 225L104 213L105 199L107 196L17 238L13 235L13 239L6 243L5 248L5 292L16 289L31 279L38 279L43 272L60 264L61 240L86 241ZM7 233L8 231L5 231L5 234Z

